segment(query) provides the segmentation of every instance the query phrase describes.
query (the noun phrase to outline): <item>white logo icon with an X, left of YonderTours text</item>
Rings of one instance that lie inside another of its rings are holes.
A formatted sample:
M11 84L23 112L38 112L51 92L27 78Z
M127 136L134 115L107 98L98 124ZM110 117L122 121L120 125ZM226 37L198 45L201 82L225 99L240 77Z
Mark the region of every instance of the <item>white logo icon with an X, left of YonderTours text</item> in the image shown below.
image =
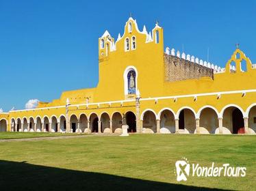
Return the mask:
M190 175L190 164L186 158L177 160L175 163L177 181L187 181L187 177Z

